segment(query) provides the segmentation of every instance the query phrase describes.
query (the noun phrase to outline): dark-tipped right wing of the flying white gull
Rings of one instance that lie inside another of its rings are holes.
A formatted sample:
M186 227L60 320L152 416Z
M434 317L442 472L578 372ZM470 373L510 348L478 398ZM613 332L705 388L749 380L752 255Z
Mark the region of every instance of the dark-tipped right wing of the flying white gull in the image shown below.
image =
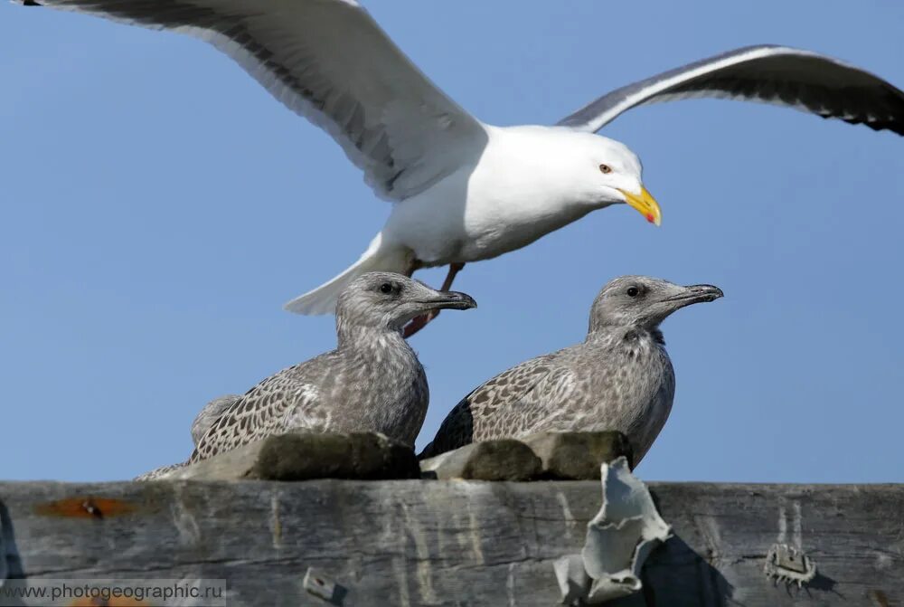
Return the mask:
M749 46L613 90L561 119L591 132L640 105L701 97L760 101L904 135L904 92L815 52Z

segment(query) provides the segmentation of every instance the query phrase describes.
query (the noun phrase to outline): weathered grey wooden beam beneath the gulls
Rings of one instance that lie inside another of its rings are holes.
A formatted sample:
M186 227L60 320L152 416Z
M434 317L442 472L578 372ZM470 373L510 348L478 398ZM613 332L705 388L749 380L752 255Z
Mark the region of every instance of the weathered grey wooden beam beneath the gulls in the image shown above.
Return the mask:
M651 488L676 536L645 596L612 604L902 604L904 486ZM0 483L11 574L227 578L240 605L327 604L303 590L308 567L346 606L555 605L552 562L579 551L599 500L593 481ZM778 540L815 560L814 583L767 580Z

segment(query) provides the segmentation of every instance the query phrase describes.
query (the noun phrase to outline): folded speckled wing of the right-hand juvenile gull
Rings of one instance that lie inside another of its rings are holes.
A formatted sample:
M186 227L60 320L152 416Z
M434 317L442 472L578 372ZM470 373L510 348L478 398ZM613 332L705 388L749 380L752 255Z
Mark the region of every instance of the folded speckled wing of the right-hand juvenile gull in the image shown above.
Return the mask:
M550 403L561 402L572 389L573 374L553 364L557 354L532 358L476 388L449 412L419 457L530 431L549 415Z

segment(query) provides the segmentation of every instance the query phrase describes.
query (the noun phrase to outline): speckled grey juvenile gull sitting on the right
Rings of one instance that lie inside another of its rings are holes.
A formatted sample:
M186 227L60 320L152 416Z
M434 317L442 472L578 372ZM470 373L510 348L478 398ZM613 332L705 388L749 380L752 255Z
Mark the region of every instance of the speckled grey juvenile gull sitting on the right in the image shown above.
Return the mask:
M659 324L675 310L722 297L711 285L681 287L623 276L599 292L587 339L496 375L447 415L420 454L532 432L623 432L635 464L672 410L675 378Z

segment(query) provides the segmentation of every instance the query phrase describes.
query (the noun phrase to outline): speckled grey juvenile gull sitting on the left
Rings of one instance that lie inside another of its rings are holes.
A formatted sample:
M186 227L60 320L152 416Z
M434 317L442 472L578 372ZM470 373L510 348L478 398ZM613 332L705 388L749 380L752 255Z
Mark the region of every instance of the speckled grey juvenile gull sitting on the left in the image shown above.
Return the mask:
M400 274L357 277L336 305L336 349L270 375L231 403L196 442L189 462L295 429L381 432L413 445L429 391L401 331L412 318L439 308L476 303Z

